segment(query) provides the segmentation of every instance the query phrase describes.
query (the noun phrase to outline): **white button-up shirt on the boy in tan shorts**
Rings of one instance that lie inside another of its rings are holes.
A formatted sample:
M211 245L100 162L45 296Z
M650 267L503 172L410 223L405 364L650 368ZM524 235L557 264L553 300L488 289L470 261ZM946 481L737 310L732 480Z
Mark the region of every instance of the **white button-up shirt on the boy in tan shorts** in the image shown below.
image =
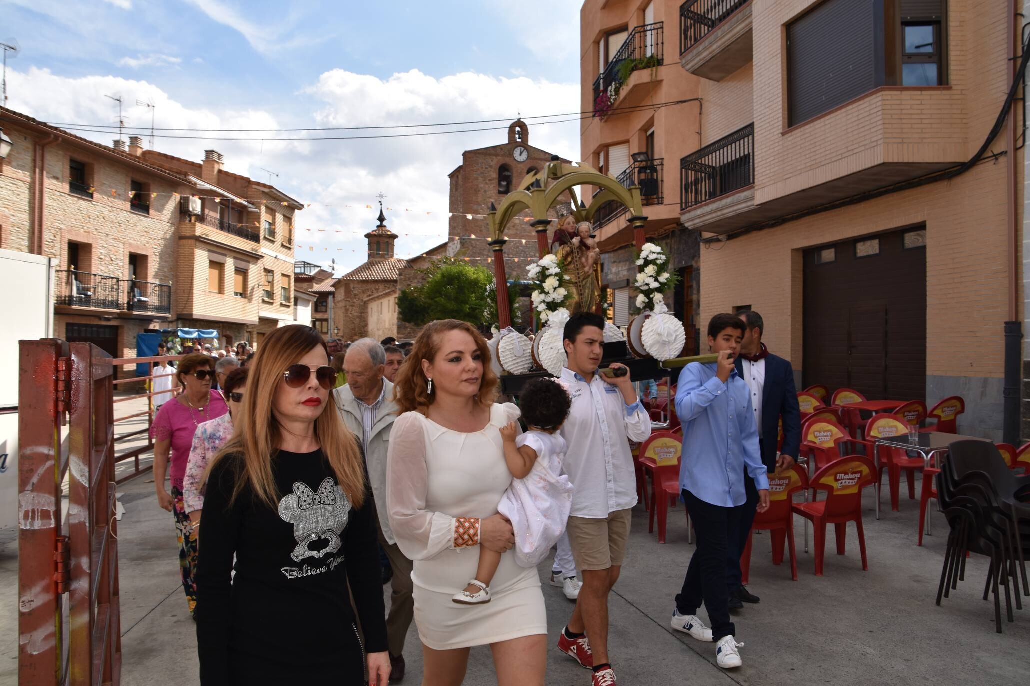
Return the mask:
M637 476L629 441L651 435L651 419L638 399L626 405L622 392L594 374L588 384L561 370L572 395L569 419L558 432L569 446L562 471L573 483L570 515L602 519L637 504Z

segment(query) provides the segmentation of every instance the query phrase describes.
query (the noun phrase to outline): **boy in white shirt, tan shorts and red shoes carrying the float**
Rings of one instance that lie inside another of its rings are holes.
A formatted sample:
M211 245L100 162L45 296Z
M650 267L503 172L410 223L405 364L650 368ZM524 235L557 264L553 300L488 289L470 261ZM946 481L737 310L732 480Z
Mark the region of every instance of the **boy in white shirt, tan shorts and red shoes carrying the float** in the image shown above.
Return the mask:
M637 398L628 369L623 376L597 371L605 320L580 312L564 328L568 366L561 381L573 399L560 434L569 448L562 471L572 481L566 533L583 584L576 609L558 638L558 649L593 671L593 686L614 686L608 657L608 594L619 578L629 537L637 477L629 441L651 435L651 420Z

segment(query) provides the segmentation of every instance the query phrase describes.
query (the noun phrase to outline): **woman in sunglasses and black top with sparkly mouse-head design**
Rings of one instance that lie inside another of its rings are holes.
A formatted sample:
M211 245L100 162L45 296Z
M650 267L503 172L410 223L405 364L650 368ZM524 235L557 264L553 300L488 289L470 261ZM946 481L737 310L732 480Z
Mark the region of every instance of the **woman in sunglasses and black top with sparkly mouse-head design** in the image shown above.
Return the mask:
M313 328L270 333L240 424L208 468L197 569L205 686L386 686L375 513L363 507L371 496L362 456L334 405L328 364Z

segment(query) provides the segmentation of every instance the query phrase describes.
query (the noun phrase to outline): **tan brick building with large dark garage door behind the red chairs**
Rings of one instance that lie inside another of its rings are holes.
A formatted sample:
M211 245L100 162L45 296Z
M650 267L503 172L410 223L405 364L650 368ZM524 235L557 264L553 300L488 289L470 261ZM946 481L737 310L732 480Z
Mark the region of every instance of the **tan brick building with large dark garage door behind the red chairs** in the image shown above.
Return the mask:
M701 79L701 146L671 200L701 243L697 321L753 308L799 388L959 395L960 432L1000 440L1023 153L991 132L1021 4L683 3L667 47Z

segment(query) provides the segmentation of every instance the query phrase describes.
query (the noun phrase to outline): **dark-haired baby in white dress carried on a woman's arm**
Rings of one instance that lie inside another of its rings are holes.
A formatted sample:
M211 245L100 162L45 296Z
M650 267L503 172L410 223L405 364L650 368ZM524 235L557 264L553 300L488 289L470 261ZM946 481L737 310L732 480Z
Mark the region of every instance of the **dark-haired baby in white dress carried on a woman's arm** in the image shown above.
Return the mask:
M515 561L522 567L536 567L561 537L572 508L573 484L561 474L565 440L557 434L572 400L556 378L529 382L521 398L528 431L519 435L516 422L501 429L505 462L514 478L497 512L511 520L515 531ZM479 546L476 578L452 600L465 605L488 603L490 581L500 564L500 552Z

